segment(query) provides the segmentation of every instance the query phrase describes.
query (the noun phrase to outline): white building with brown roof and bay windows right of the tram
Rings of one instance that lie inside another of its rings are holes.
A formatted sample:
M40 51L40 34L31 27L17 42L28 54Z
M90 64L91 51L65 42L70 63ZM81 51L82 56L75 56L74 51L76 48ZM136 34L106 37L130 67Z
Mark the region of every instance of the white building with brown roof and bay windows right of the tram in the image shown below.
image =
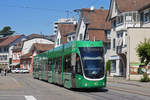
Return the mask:
M107 20L111 21L111 76L128 76L128 28L142 27L139 9L150 0L111 0ZM141 37L144 38L144 37Z

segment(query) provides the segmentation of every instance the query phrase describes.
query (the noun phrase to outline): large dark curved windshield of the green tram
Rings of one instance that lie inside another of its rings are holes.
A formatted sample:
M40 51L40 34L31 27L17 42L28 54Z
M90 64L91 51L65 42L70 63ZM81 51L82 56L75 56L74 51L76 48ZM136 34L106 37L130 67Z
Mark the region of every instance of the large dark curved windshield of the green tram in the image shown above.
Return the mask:
M87 78L98 79L104 76L104 58L102 47L79 48L84 74Z

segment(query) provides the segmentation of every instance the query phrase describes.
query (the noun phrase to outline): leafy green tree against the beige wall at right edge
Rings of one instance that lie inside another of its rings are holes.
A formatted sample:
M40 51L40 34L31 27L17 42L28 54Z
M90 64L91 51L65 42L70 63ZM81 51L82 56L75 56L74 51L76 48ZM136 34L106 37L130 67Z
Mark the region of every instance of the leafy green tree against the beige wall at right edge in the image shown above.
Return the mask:
M144 42L140 42L136 52L140 57L141 63L148 64L150 62L150 39L145 39Z

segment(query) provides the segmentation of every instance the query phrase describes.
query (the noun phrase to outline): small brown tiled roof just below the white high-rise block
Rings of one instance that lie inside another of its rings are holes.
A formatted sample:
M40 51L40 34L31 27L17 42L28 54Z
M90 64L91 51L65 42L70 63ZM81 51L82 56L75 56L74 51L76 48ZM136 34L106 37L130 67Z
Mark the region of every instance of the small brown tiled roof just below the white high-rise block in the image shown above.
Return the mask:
M74 32L75 28L76 28L75 24L58 24L58 29L62 37L62 44L65 44L67 42L66 34Z

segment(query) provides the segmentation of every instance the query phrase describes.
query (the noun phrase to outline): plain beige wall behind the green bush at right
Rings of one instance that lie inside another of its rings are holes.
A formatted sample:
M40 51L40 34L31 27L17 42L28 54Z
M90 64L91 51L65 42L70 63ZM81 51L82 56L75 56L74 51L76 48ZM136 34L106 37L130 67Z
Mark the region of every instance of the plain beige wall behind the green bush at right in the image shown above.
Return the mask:
M150 39L150 28L129 28L127 39L127 79L130 75L130 64L140 63L136 49L145 38Z

